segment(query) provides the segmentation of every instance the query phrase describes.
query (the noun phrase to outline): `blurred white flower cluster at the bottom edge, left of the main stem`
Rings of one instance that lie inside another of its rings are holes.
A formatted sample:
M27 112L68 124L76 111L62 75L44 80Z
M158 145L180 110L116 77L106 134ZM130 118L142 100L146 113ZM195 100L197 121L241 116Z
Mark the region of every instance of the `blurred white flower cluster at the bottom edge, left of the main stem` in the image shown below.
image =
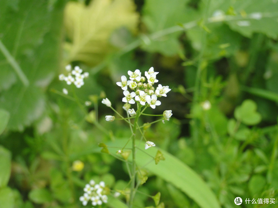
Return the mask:
M84 195L79 198L84 206L88 204L91 200L92 205L101 205L102 203L107 203L108 197L103 194L103 189L105 183L101 181L99 184L96 184L94 180L91 180L89 184L86 184L84 188Z

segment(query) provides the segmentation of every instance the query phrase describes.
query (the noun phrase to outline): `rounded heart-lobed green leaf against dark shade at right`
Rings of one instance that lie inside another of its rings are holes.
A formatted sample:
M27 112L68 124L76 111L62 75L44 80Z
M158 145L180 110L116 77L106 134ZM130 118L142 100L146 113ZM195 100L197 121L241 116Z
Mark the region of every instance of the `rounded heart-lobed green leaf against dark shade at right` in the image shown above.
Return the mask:
M244 100L241 106L235 109L234 116L246 125L256 125L262 120L262 116L256 110L257 104L253 100Z

